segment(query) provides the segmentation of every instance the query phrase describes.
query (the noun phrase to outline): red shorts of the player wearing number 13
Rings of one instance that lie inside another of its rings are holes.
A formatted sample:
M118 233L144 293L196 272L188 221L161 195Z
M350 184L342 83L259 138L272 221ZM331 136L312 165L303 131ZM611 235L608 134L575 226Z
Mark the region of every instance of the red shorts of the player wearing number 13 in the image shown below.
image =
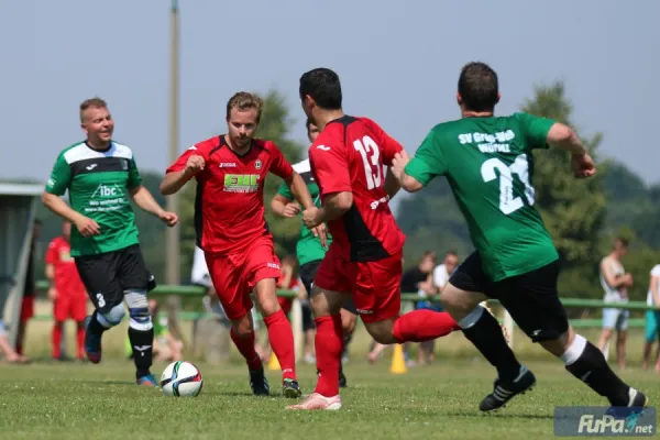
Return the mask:
M402 308L402 262L398 253L375 262L350 262L330 245L314 284L326 290L349 292L363 322L396 318Z

